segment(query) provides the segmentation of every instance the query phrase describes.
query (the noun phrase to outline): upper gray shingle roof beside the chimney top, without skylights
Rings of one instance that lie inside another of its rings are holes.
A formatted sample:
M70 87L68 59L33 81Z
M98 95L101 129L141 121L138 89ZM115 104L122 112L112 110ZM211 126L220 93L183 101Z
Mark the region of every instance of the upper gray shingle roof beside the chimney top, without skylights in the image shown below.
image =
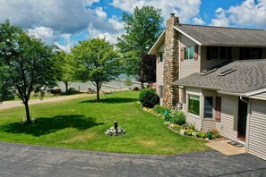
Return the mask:
M203 46L266 46L266 31L179 24L176 29Z

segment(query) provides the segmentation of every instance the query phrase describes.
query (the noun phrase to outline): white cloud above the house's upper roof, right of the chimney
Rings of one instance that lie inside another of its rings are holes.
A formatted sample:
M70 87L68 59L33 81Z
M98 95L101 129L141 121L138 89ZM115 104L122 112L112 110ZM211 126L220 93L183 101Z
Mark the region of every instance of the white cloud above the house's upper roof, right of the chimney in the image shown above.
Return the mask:
M245 0L242 4L230 6L227 10L219 12L218 17L212 21L219 19L226 20L233 26L256 27L266 30L266 0ZM220 18L219 14L223 17Z

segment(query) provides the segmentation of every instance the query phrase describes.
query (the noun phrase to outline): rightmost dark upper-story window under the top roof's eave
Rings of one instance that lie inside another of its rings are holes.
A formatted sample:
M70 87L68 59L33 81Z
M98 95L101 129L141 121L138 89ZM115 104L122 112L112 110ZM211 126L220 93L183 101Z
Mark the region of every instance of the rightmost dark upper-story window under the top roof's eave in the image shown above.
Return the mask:
M262 59L261 47L240 47L240 60L246 59Z

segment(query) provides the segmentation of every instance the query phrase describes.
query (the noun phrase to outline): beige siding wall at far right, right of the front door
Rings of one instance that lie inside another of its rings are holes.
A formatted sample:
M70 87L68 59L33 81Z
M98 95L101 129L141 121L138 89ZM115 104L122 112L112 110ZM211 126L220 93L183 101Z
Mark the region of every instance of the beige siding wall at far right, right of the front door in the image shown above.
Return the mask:
M266 101L251 99L248 153L266 160Z

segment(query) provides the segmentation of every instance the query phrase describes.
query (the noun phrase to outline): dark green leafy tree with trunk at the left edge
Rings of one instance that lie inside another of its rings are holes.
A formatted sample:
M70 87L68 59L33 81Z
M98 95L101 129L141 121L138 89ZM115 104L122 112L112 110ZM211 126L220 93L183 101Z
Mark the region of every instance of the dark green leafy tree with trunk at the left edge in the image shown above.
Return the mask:
M10 21L0 24L0 96L13 90L25 105L27 122L30 122L30 93L56 85L53 57L52 46L30 37Z

